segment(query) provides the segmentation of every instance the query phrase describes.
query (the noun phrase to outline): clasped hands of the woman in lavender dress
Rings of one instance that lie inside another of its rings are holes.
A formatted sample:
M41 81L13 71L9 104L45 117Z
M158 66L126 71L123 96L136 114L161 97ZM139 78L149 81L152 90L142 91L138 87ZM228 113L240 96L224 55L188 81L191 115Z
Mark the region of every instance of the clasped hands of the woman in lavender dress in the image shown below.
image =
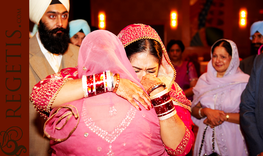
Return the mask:
M206 122L209 122L209 124L212 126L218 126L225 121L224 118L221 116L221 115L226 116L224 111L215 110L211 108L203 108L203 111L204 111L205 116L207 116L208 121Z

